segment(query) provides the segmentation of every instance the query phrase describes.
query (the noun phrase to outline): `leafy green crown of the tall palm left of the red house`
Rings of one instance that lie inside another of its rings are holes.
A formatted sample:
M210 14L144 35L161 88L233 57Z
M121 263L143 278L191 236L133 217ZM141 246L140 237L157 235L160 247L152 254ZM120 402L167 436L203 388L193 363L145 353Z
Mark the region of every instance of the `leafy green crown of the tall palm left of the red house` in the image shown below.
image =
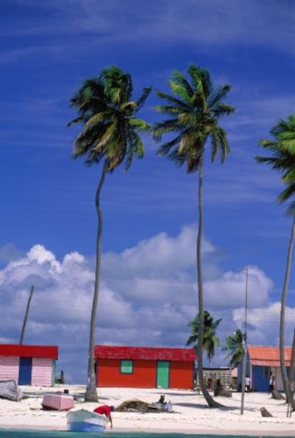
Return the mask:
M70 99L78 117L68 126L82 125L74 140L74 158L86 156L88 165L105 160L105 168L112 172L125 159L129 168L134 154L143 156L138 132L149 132L151 127L135 113L148 98L150 87L144 88L138 101L133 101L132 93L130 74L118 66L106 67L98 76L83 81Z

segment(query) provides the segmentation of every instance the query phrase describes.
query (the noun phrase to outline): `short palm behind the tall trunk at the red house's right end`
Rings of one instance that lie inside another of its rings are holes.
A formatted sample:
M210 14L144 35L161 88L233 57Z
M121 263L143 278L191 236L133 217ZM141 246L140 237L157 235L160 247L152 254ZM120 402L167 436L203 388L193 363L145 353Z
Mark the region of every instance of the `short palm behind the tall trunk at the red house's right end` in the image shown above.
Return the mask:
M214 320L210 312L208 310L205 310L204 312L204 335L203 335L203 345L202 350L205 350L207 352L207 359L209 360L209 367L211 367L211 361L214 357L215 353L215 347L220 346L219 337L216 335L217 327L219 326L220 321ZM199 338L199 332L200 332L200 314L198 314L194 320L190 322L190 327L192 330L192 335L187 340L187 345L195 344L194 348L197 352L197 356L199 355L198 352L198 338Z

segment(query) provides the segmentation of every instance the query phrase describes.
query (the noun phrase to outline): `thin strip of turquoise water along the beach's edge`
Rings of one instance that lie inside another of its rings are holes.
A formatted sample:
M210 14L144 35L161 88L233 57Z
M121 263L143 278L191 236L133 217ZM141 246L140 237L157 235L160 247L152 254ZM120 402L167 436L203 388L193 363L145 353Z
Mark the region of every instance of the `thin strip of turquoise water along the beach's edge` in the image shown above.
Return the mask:
M110 435L111 437L108 437ZM0 438L253 438L249 435L204 435L204 434L149 434L145 432L66 432L66 431L38 431L21 429L0 429ZM267 437L263 438L276 438ZM281 436L279 438L291 438Z

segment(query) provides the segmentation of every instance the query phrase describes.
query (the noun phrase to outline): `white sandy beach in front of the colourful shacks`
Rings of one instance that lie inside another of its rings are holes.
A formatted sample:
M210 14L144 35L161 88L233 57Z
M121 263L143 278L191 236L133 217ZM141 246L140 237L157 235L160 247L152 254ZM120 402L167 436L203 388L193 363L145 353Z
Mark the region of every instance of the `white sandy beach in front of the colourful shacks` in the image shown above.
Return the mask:
M54 388L21 387L27 398L21 402L0 399L0 429L51 429L66 430L66 412L43 410L44 392L68 389L78 400L73 409L93 410L100 404L115 407L130 399L157 402L164 393L170 400L173 412L148 413L113 412L114 432L175 432L187 434L252 434L288 435L295 437L295 412L286 417L286 403L274 400L266 393L246 393L244 414L241 415L241 393L233 392L232 398L214 397L224 409L211 409L202 397L193 391L166 389L98 388L99 402L83 403L85 387L56 385ZM262 417L260 408L266 407L273 417ZM108 427L109 429L109 427Z

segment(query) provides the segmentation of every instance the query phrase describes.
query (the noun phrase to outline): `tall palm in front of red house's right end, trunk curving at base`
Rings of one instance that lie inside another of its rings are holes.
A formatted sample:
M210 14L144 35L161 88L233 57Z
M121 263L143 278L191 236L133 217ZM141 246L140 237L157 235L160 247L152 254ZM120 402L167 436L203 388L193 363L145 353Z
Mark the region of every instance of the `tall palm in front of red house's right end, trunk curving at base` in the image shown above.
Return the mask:
M204 336L204 303L202 291L202 232L203 232L203 202L202 185L205 162L205 146L211 143L211 159L220 154L223 162L229 153L227 133L218 125L219 117L229 115L234 108L225 104L224 98L230 90L228 85L214 88L209 72L191 64L187 69L189 79L179 71L172 73L169 86L172 95L157 91L165 104L155 109L168 116L167 120L155 124L154 136L160 141L163 134L175 133L160 146L158 153L167 155L177 165L186 164L187 173L198 171L198 210L199 225L197 230L197 290L200 314L200 331L198 338L198 375L200 388L211 407L218 403L212 399L206 389L203 377L202 344Z

